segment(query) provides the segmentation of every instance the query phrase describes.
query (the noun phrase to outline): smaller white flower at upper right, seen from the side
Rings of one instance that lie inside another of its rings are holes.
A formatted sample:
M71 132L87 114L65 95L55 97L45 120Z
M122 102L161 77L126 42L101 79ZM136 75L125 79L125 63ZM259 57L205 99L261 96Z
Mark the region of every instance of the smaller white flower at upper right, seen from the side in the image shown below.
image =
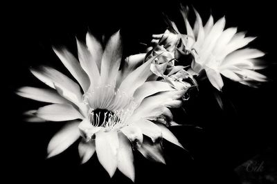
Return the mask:
M237 28L224 30L225 17L213 23L211 15L203 26L202 18L196 10L196 21L192 28L187 12L188 8L185 10L182 6L181 13L187 34L179 35L185 45L185 51L193 54L190 70L192 74L199 74L205 70L208 80L217 90L222 90L224 85L221 74L253 87L255 82L267 81L266 76L255 71L263 68L260 65L262 61L257 58L265 53L253 48L244 48L255 37L245 37L245 33L237 32ZM179 32L176 26L174 28Z

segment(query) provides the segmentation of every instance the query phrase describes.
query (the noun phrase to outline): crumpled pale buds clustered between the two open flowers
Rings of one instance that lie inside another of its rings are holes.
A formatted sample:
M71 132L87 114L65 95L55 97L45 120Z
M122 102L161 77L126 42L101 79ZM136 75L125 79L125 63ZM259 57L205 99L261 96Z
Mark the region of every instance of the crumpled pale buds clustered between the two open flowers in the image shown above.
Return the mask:
M180 35L166 30L163 34L153 34L152 38L152 46L147 49L148 53L143 54L143 56L146 61L156 57L150 67L154 74L153 78L165 81L173 88L185 92L188 88L197 85L193 76L184 70L186 68L184 65L175 65L175 61L178 61L180 52L182 52L178 47L184 47ZM141 63L144 58L139 56L142 54L136 54L133 57L140 59L139 63Z

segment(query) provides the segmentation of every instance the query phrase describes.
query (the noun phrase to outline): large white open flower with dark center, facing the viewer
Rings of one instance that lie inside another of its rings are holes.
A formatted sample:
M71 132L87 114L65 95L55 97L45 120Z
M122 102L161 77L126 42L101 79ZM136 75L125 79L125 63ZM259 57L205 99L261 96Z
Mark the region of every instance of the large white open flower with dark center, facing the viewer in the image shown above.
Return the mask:
M161 139L182 147L166 125L174 123L168 108L179 107L184 92L162 81L146 81L152 74L150 64L157 57L141 65L125 63L119 70L123 50L119 31L111 36L104 51L89 32L86 42L84 45L77 40L80 62L65 48L53 48L80 85L43 66L31 72L53 89L23 87L17 94L53 103L26 112L28 121L68 121L49 142L48 158L60 154L81 136L78 150L82 163L96 152L109 176L118 168L134 181L132 148L148 159L165 163ZM132 61L132 57L129 59Z

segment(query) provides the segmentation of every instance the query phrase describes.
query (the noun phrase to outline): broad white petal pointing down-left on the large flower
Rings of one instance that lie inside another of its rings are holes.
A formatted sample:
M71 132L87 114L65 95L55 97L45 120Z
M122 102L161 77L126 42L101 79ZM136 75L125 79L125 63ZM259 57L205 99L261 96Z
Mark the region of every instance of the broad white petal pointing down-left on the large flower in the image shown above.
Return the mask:
M48 158L60 154L80 137L78 129L79 121L66 123L62 129L57 132L48 144Z

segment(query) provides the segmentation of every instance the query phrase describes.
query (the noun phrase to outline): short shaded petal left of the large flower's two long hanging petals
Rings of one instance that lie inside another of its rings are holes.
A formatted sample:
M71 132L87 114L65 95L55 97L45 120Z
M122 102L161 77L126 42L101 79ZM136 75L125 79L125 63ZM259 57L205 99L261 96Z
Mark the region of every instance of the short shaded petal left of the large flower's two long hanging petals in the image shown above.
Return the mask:
M81 163L86 163L91 159L94 152L96 151L95 141L86 142L82 139L78 145L78 151L81 158Z

